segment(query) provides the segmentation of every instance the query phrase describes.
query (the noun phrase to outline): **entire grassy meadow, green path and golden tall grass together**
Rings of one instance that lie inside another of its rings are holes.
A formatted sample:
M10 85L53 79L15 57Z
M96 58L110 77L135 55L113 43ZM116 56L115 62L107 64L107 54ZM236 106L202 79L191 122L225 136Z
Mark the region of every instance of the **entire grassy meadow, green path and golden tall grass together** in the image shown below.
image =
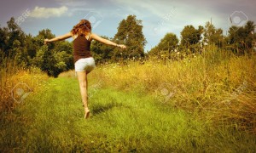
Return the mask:
M89 120L74 71L52 78L7 62L1 152L255 152L256 54L176 56L97 65ZM31 94L17 103L20 82Z

